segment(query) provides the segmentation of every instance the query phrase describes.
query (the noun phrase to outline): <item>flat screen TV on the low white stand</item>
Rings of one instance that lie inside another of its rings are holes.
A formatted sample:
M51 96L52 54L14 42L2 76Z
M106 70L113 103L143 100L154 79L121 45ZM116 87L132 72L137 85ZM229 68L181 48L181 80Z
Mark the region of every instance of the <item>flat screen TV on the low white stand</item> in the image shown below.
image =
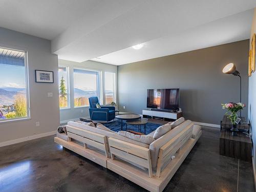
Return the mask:
M147 108L179 110L180 89L148 89Z

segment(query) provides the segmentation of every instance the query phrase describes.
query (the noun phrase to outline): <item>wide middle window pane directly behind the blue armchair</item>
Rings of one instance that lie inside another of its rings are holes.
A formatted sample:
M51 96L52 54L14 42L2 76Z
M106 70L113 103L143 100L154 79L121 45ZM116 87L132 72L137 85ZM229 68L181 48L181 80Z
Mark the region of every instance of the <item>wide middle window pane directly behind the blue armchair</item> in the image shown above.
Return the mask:
M89 97L99 97L99 72L74 69L74 106L89 106Z

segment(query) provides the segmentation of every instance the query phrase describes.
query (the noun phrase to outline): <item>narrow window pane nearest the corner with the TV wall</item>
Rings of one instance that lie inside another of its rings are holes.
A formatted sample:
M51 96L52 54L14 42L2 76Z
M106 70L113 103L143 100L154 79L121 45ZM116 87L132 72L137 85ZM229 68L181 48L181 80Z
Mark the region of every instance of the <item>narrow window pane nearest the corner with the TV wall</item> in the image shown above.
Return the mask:
M116 102L116 74L105 72L105 104Z

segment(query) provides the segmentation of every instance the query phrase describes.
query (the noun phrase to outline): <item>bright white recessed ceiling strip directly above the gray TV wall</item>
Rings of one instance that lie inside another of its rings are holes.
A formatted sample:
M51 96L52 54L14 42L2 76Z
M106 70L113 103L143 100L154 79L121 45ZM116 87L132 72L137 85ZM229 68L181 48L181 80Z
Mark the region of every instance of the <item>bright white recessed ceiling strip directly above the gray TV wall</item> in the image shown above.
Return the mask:
M248 39L252 15L253 9L224 17L181 33L144 42L144 46L140 50L129 47L91 60L119 66Z

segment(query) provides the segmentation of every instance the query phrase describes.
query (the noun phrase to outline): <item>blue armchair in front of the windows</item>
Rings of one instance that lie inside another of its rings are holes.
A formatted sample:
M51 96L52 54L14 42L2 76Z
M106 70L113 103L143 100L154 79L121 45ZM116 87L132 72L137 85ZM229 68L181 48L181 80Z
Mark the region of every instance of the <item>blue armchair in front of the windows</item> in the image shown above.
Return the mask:
M98 97L90 97L90 118L93 121L111 121L115 119L115 107L114 106L101 106L100 109L96 108L96 104L99 103Z

